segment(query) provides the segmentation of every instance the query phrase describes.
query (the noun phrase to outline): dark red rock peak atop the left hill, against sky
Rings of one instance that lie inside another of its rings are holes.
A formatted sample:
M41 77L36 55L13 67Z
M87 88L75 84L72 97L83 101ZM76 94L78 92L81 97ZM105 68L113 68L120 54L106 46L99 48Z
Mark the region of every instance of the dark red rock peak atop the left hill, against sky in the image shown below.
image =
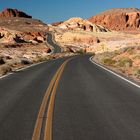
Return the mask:
M19 11L17 9L7 8L0 13L0 17L24 17L24 18L32 18L32 16L27 15L26 13Z

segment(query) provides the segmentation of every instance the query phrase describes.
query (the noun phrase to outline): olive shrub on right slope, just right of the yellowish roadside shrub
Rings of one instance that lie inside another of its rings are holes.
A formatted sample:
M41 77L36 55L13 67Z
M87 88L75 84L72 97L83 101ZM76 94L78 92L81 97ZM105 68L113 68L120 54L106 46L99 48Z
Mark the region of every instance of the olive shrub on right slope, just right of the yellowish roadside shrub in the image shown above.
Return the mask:
M120 67L132 67L133 61L130 58L122 58L118 60L118 65Z

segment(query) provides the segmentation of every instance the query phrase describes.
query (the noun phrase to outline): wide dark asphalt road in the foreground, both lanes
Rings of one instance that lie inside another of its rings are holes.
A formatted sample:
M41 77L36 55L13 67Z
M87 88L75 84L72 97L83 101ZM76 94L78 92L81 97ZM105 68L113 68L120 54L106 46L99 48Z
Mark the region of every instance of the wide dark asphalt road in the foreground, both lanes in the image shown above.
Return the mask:
M37 139L140 140L140 89L89 56L0 79L0 140Z

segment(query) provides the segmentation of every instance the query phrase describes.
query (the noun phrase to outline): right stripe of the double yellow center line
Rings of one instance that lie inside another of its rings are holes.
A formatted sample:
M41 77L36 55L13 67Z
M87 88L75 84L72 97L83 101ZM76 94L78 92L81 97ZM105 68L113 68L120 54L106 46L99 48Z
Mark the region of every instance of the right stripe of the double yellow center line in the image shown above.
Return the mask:
M48 106L48 112L47 112L47 120L45 124L45 131L44 131L44 140L52 140L52 121L53 121L53 112L54 112L54 102L55 102L55 97L56 97L56 90L61 78L61 75L64 71L64 68L66 64L68 63L69 60L65 61L62 65L62 69L60 70L60 73L56 79L56 82L54 84L49 106Z

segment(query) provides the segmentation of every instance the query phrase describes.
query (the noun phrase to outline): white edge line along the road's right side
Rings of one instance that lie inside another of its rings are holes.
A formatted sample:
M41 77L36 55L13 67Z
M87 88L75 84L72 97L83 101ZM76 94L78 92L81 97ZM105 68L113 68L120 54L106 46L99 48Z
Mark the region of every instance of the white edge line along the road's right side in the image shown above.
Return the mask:
M134 85L134 86L136 86L136 87L138 87L138 88L140 88L140 85L138 85L138 84L136 84L136 83L134 83L134 82L132 82L132 81L130 81L130 80L128 80L128 79L122 77L122 76L120 76L119 74L113 72L112 70L109 70L109 69L103 67L103 66L100 65L100 64L97 64L96 62L94 62L94 61L92 60L92 58L93 58L93 56L89 58L89 60L91 61L91 63L93 63L93 64L99 66L100 68L102 68L102 69L104 69L104 70L106 70L106 71L108 71L108 72L110 72L110 73L112 73L112 74L114 74L115 76L117 76L117 77L123 79L124 81L126 81L126 82L128 82L128 83L130 83L130 84L132 84L132 85Z

